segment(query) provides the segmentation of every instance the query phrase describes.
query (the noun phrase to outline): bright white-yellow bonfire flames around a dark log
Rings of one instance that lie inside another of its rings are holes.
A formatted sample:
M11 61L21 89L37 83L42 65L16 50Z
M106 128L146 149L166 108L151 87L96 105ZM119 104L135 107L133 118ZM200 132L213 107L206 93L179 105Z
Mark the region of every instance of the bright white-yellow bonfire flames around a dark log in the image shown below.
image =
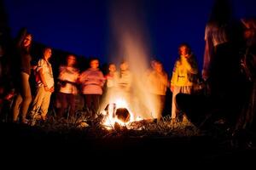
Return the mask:
M116 99L113 103L108 104L105 111L103 111L103 115L105 115L103 125L108 129L113 128L115 123L119 123L120 126L128 127L131 122L142 120L141 117L135 119L125 99ZM120 116L122 118L120 118Z

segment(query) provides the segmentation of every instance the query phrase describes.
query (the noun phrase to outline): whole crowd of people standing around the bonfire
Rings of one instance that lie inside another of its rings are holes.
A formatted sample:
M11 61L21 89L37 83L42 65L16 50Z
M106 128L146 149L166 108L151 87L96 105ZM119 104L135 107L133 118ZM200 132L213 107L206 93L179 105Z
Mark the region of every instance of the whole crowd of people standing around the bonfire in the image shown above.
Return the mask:
M222 3L216 4L212 10L205 31L202 71L199 71L195 54L188 43L182 43L177 48L178 57L170 79L160 60L150 61L150 69L144 75L147 80L145 88L157 105L153 119L160 121L166 104L166 90L170 88L172 103L168 105L172 105L172 122L182 122L186 118L200 127L207 118L214 117L214 121L221 119L229 123L234 132L254 131L256 20L243 18L236 25L230 20L227 8L229 5ZM78 94L83 96L84 112L91 118L95 118L101 105L104 105L102 94L109 101L119 95L132 103L131 88L135 73L129 70L127 61L122 61L119 68L114 63L109 64L108 74L104 76L99 68L99 59L90 59L90 68L79 71L77 57L68 54L66 65L60 65L58 77L54 78L52 67L55 65L50 64L52 48L44 48L42 58L36 65L31 65L31 46L32 34L21 29L14 41L15 50L9 53L13 61L9 71L3 71L6 65L1 60L1 115L5 102L9 101L12 122L26 124L32 121L34 124L38 120L45 121L50 103L55 105L58 118L73 117ZM32 75L36 82L33 96ZM6 86L5 81L9 80L6 77L12 77L12 85L8 85L11 90ZM55 101L51 102L53 93Z

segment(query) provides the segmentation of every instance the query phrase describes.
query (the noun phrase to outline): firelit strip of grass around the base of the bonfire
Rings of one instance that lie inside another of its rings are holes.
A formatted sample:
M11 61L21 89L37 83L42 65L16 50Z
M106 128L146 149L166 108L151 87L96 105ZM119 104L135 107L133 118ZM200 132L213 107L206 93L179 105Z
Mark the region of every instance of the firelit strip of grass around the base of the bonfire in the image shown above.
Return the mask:
M165 116L160 122L143 120L131 122L125 127L115 123L112 127L102 124L103 115L91 119L88 113L77 111L76 116L69 119L56 119L49 113L45 122L37 122L36 127L45 133L59 133L68 135L79 133L85 138L165 138L165 137L189 137L200 136L201 131L190 122L172 122L171 116Z

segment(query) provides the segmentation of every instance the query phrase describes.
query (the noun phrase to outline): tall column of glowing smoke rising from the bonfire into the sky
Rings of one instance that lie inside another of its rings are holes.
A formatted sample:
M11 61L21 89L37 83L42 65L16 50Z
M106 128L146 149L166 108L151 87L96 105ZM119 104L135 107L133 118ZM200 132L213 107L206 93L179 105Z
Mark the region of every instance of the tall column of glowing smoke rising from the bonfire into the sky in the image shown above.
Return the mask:
M110 7L114 48L111 55L119 65L125 60L131 71L131 107L136 116L155 117L155 102L147 88L150 42L143 2L115 1ZM119 68L119 66L118 66Z

